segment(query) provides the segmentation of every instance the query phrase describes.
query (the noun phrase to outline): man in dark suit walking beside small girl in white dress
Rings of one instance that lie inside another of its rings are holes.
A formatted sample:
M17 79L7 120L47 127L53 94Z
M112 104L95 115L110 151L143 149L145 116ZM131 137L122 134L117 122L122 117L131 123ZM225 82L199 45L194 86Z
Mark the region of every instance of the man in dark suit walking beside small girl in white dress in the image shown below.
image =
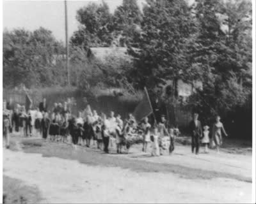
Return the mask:
M198 120L198 113L194 113L193 120L189 124L189 129L191 133L191 147L192 153L194 153L194 149L196 149L196 154L199 152L200 138L202 137L202 125Z

